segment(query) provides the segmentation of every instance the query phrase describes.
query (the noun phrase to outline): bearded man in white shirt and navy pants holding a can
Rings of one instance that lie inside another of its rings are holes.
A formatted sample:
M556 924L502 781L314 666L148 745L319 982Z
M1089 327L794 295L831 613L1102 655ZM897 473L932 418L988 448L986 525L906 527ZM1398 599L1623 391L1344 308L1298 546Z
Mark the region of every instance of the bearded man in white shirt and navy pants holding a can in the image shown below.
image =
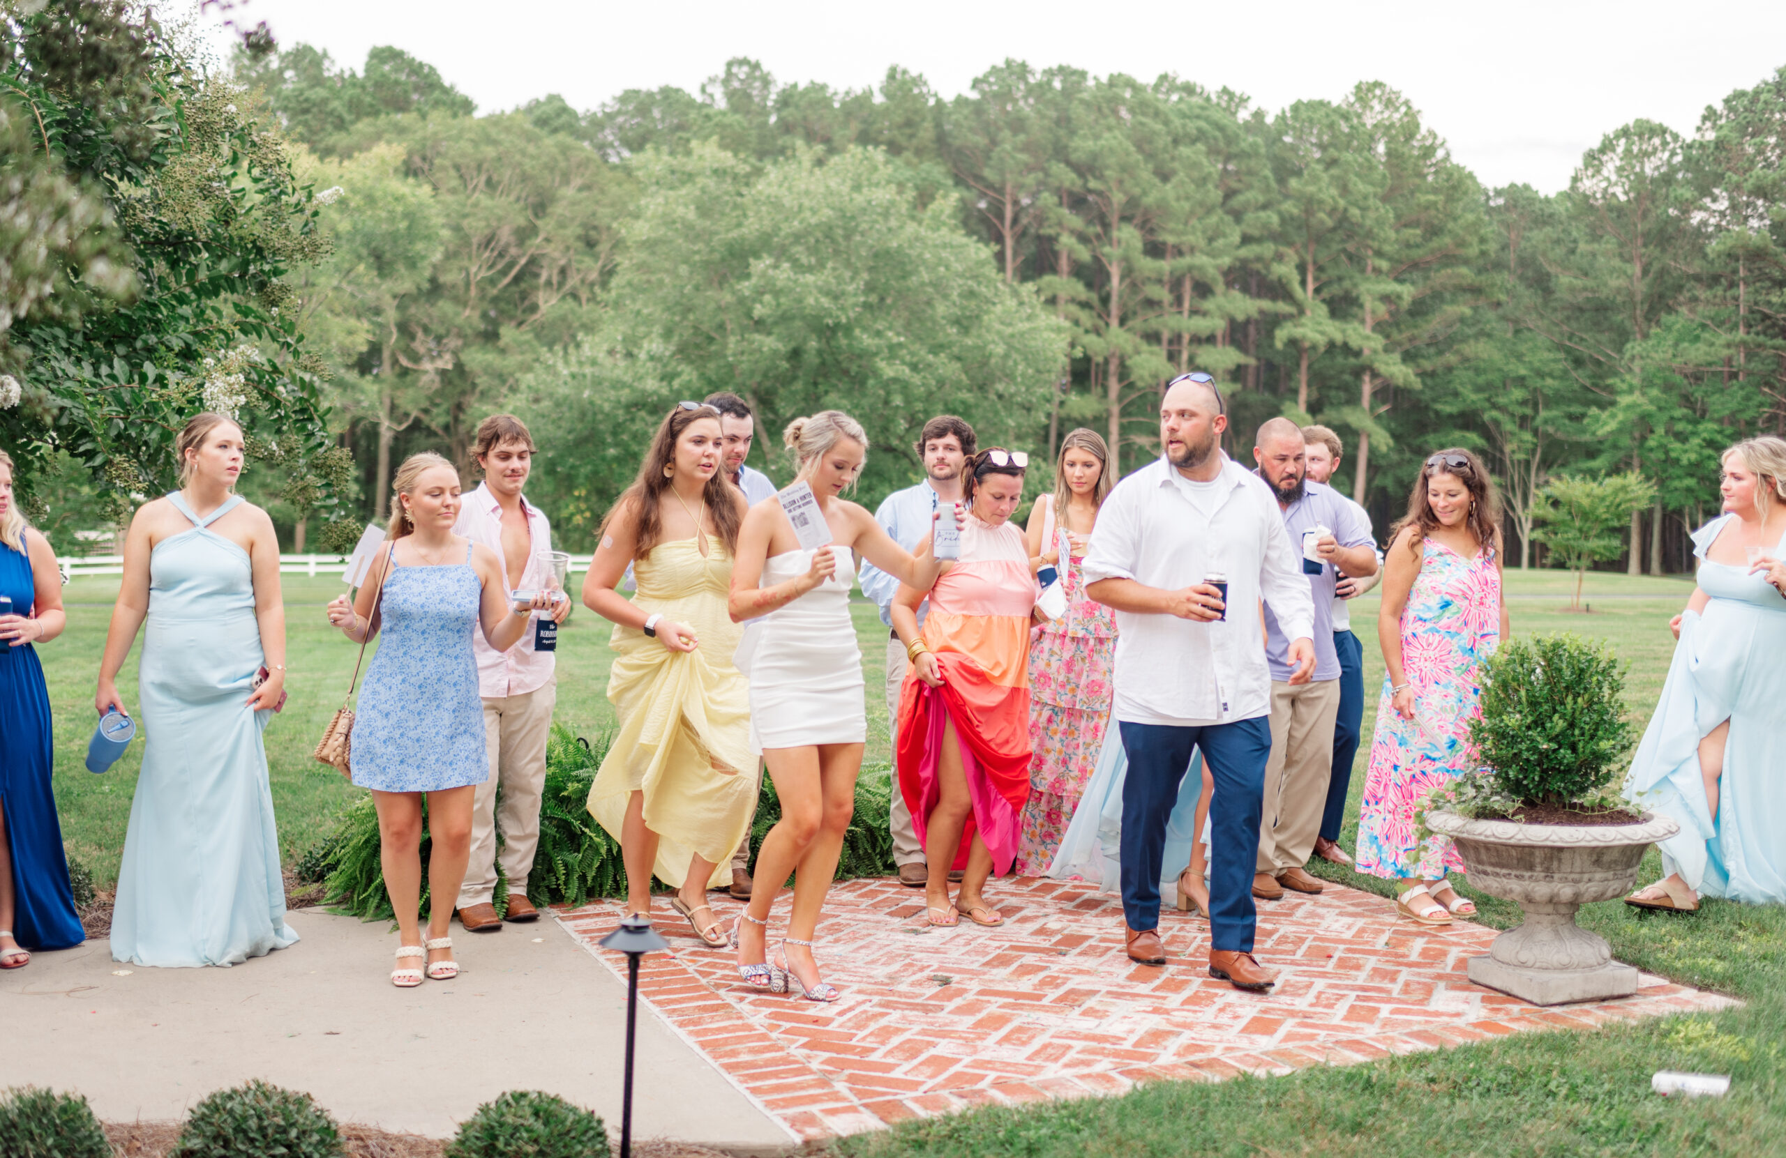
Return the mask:
M1314 600L1272 489L1220 450L1227 428L1209 375L1186 375L1161 400L1164 457L1129 475L1098 510L1086 551L1088 594L1116 610L1116 698L1129 773L1122 806L1122 897L1129 956L1166 964L1159 869L1166 817L1200 748L1209 805L1209 974L1268 988L1252 956L1252 874L1264 765L1272 753L1272 673L1259 600L1284 635L1293 683L1314 673ZM1227 592L1206 582L1227 580Z

